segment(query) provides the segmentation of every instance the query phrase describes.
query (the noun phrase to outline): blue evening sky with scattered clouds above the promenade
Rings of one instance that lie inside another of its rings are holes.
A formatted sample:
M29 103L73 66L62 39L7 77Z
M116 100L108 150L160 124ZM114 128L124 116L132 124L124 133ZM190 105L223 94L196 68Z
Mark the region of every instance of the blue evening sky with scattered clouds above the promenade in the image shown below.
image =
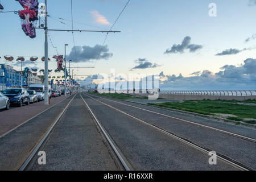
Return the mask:
M15 0L0 3L3 11L22 10ZM109 30L127 1L72 3L74 29ZM216 16L209 16L210 3L216 5ZM48 15L49 28L70 30L71 0L48 0ZM73 68L76 75L90 75L78 77L83 83L115 69L126 75L160 74L162 90L255 90L255 16L255 0L131 0L113 27L121 32L109 33L104 46L106 34L102 32L74 32L74 48L72 32L50 31L49 56L64 55L64 44L68 44L71 67L95 64L94 69ZM43 30L36 30L36 38L30 39L22 31L18 15L0 13L0 21L0 63L19 70L18 56L28 60L44 55ZM6 62L5 55L14 56L13 63ZM42 61L27 66L44 69ZM49 68L56 67L52 59Z

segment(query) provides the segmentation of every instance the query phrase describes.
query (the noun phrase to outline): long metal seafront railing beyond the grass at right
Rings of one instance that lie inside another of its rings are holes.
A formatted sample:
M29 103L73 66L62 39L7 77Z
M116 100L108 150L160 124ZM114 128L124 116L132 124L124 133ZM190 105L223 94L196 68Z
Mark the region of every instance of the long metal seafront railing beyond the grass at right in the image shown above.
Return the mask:
M256 90L187 90L160 91L160 94L196 96L256 96Z

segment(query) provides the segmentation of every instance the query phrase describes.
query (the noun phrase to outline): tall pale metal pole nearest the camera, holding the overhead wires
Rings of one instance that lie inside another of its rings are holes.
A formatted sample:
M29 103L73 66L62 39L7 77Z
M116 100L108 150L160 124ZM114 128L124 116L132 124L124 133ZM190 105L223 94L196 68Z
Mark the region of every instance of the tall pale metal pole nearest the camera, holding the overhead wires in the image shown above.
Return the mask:
M45 42L44 42L44 105L49 105L49 91L48 91L48 27L47 27L47 0L44 0L46 5L46 16L44 17L45 27Z

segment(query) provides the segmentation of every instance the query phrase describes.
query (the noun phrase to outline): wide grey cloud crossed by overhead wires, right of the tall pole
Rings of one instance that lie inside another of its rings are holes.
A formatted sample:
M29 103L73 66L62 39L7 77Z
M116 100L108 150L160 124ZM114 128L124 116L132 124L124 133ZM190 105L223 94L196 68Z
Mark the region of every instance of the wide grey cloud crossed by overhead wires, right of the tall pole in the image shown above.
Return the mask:
M101 54L100 56L98 56L98 53ZM72 48L71 53L69 53L69 55L67 56L68 60L76 60L77 57L77 62L88 62L90 60L96 60L96 59L109 59L110 57L113 56L113 53L109 52L109 48L107 45L105 46L100 46L100 45L96 45L94 47L90 47L90 46L76 46Z

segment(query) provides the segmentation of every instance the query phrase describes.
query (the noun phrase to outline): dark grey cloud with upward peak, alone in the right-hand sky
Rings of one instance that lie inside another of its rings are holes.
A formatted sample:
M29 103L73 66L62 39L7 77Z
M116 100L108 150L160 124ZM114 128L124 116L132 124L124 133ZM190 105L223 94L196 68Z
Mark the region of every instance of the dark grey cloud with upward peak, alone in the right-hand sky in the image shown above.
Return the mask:
M174 44L170 49L166 49L164 53L184 53L185 49L189 49L189 52L196 52L197 50L203 48L201 45L190 43L191 37L186 36L181 44Z

